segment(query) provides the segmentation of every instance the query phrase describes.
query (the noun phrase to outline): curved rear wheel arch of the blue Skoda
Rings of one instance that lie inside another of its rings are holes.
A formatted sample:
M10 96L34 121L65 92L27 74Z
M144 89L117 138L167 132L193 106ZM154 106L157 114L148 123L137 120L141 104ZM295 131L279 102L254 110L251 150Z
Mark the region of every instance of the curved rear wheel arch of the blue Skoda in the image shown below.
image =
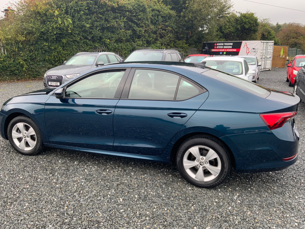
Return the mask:
M191 133L187 133L183 136L181 136L180 138L178 138L172 149L171 149L171 152L170 152L170 161L171 161L171 164L175 165L176 164L176 155L178 153L178 149L179 147L181 146L181 144L191 138L191 137L194 137L194 136L205 136L205 137L209 137L209 138L212 138L212 139L217 139L218 141L221 142L222 144L222 147L224 147L228 152L229 152L229 155L230 155L230 161L231 161L231 164L232 164L232 167L236 168L236 162L235 162L235 157L234 157L234 154L231 150L231 148L228 146L228 144L223 140L223 138L219 137L219 136L216 136L214 134L211 134L211 133L207 133L207 132L201 132L201 131L198 131L198 132L191 132Z

